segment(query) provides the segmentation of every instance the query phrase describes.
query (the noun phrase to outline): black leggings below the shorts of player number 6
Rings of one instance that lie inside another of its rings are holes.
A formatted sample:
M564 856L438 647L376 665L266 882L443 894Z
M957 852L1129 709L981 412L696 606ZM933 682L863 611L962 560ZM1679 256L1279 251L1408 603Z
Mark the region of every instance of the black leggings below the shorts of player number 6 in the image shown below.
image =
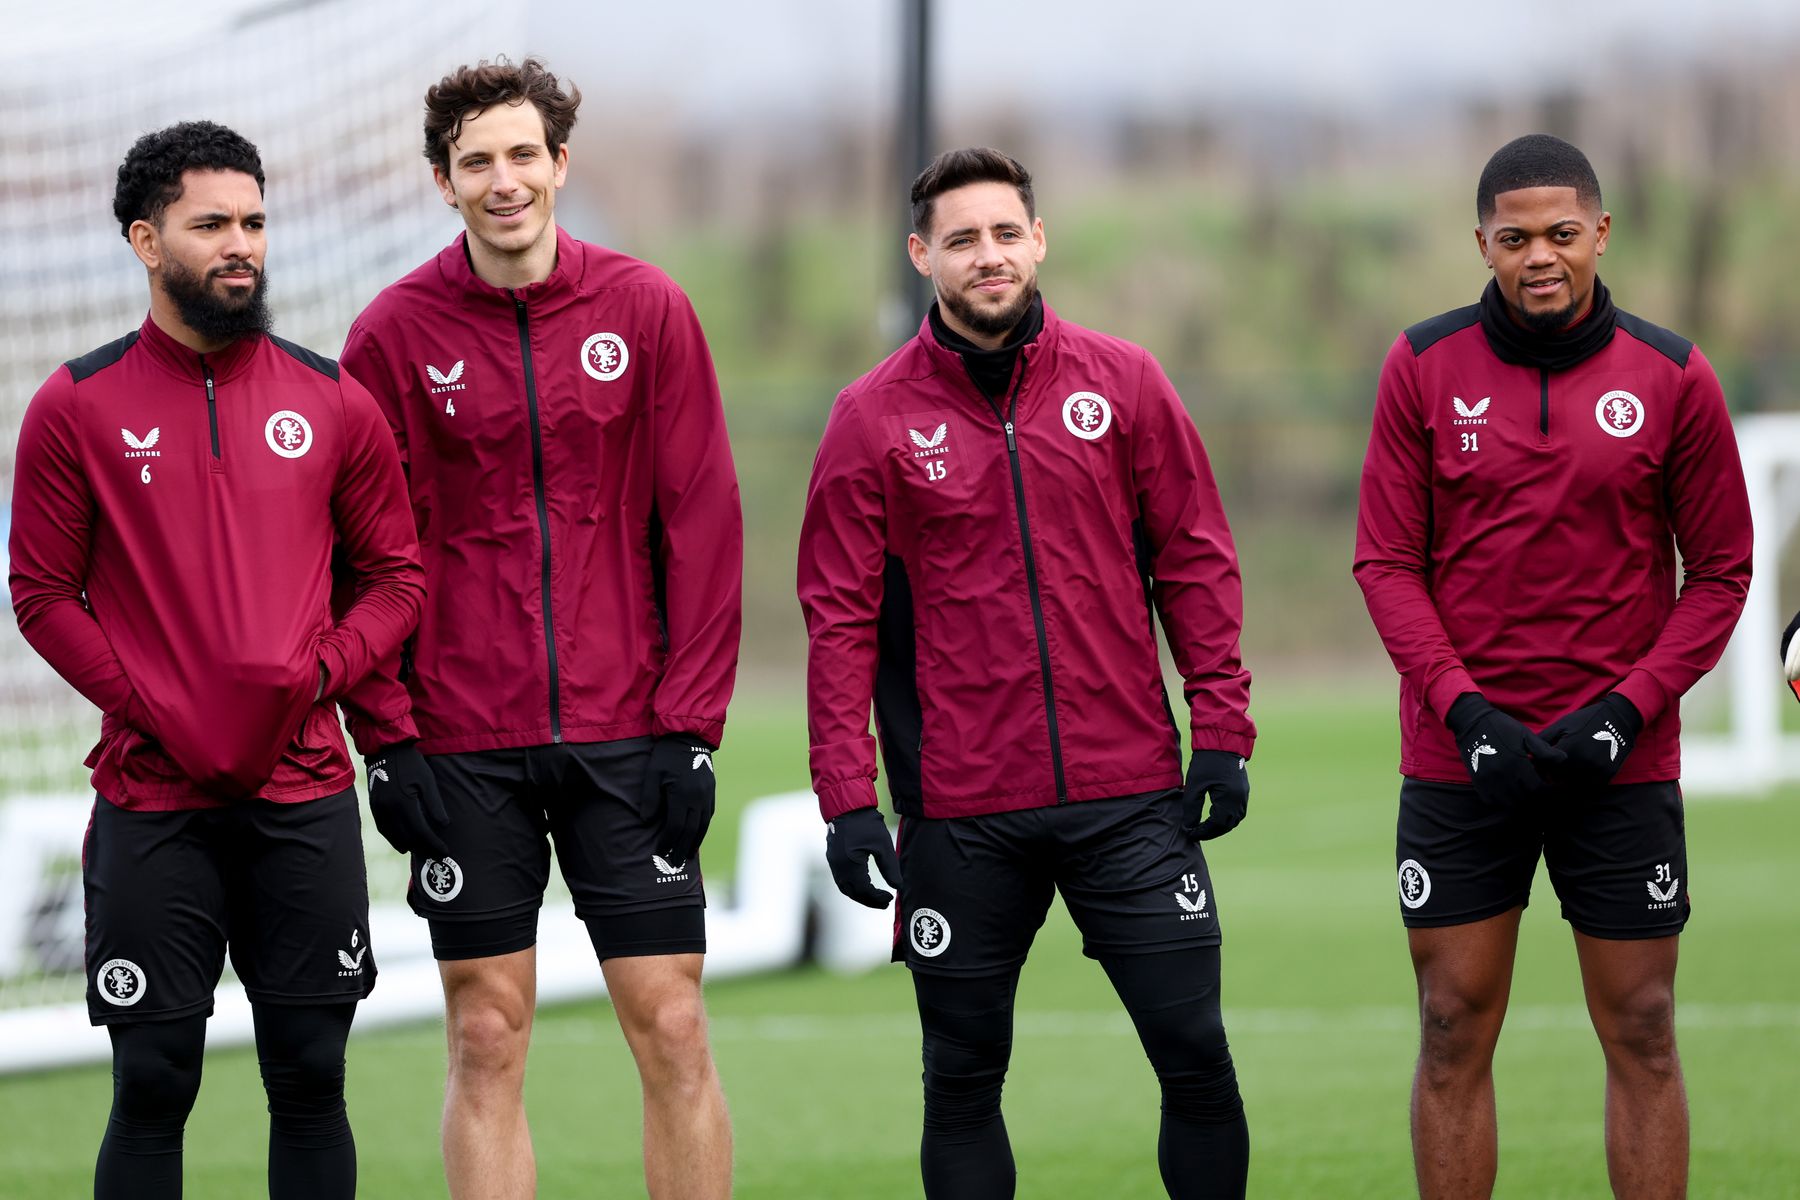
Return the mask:
M349 1200L356 1142L344 1112L344 1040L355 1004L256 1004L268 1092L272 1200ZM95 1200L180 1200L182 1132L200 1094L205 1015L108 1025L113 1106L94 1168Z

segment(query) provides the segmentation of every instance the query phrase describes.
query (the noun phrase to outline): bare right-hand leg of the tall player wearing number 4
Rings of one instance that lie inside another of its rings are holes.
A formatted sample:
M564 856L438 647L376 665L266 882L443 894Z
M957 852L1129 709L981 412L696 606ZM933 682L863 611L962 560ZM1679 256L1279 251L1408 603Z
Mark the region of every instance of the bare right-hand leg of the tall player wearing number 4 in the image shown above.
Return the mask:
M644 1087L652 1200L731 1195L731 1115L706 1042L698 954L607 959L607 993Z

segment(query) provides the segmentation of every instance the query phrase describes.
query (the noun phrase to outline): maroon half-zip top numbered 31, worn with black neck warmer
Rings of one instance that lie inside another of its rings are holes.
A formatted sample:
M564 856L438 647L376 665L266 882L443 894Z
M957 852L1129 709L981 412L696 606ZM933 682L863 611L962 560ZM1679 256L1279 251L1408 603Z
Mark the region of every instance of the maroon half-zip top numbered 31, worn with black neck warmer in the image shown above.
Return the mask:
M1676 779L1678 702L1750 588L1712 365L1624 311L1568 371L1501 362L1480 306L1413 326L1381 371L1355 578L1400 671L1404 775L1467 783L1444 725L1462 693L1543 729L1616 691L1645 723L1615 783Z

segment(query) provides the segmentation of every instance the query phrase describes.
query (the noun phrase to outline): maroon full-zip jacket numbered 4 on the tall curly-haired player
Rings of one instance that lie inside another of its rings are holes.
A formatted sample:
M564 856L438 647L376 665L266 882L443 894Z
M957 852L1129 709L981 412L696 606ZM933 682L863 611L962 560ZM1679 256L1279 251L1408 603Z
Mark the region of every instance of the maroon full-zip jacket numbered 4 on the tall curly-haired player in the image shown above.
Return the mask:
M718 745L743 518L688 297L563 230L549 279L495 288L463 243L382 291L344 344L400 441L425 556L405 680L419 748Z

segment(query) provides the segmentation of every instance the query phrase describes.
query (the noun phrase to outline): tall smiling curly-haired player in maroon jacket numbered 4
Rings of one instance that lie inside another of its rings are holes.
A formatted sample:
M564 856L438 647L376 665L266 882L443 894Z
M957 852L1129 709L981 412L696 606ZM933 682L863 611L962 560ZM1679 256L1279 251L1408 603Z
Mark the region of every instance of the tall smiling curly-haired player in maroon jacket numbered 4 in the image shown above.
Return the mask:
M724 1196L697 851L736 675L738 480L688 299L556 225L580 99L538 59L427 92L425 157L466 230L344 347L412 491L430 596L405 682L445 810L371 802L412 851L443 975L450 1193L536 1187L522 1088L551 838L637 1060L650 1195Z

